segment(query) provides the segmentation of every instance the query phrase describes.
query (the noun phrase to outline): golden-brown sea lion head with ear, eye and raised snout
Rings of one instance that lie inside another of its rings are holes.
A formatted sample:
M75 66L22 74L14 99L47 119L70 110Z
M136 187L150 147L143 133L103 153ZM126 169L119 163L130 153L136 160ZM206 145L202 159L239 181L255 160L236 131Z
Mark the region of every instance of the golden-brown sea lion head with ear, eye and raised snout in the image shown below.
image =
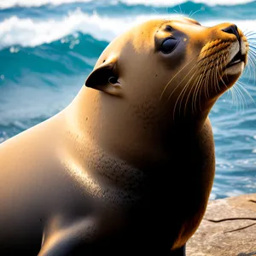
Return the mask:
M108 45L85 85L123 98L140 115L205 119L240 77L247 50L235 24L148 20Z

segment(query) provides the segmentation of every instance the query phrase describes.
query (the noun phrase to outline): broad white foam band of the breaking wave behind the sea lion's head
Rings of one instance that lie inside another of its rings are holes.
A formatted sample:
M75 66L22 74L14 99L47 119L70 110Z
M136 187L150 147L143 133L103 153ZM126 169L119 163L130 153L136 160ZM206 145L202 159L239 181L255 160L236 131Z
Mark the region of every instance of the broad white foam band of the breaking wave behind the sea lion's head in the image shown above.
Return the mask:
M177 18L181 15L138 15L136 17L102 17L96 13L88 15L80 9L63 16L59 20L32 20L11 16L0 23L0 49L15 44L37 46L51 43L74 32L88 33L96 39L111 41L120 33L144 20L154 18ZM227 20L207 20L204 26L214 26ZM256 20L228 20L242 30L255 31Z

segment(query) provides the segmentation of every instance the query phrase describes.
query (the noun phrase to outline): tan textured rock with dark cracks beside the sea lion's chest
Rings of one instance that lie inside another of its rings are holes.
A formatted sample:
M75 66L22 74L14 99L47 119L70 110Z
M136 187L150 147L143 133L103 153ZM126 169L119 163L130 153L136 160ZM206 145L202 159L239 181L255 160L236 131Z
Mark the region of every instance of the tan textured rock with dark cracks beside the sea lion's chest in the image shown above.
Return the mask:
M224 218L254 218L230 219ZM256 194L209 201L195 235L187 243L188 256L256 255Z

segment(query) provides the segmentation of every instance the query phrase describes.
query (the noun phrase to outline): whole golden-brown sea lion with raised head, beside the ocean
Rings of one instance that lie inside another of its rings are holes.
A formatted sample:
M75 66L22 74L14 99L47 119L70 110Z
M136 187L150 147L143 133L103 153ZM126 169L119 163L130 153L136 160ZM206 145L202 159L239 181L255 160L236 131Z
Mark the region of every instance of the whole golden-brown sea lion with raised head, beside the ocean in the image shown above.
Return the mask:
M215 169L214 102L236 25L148 20L115 38L73 102L0 145L0 254L184 255Z

